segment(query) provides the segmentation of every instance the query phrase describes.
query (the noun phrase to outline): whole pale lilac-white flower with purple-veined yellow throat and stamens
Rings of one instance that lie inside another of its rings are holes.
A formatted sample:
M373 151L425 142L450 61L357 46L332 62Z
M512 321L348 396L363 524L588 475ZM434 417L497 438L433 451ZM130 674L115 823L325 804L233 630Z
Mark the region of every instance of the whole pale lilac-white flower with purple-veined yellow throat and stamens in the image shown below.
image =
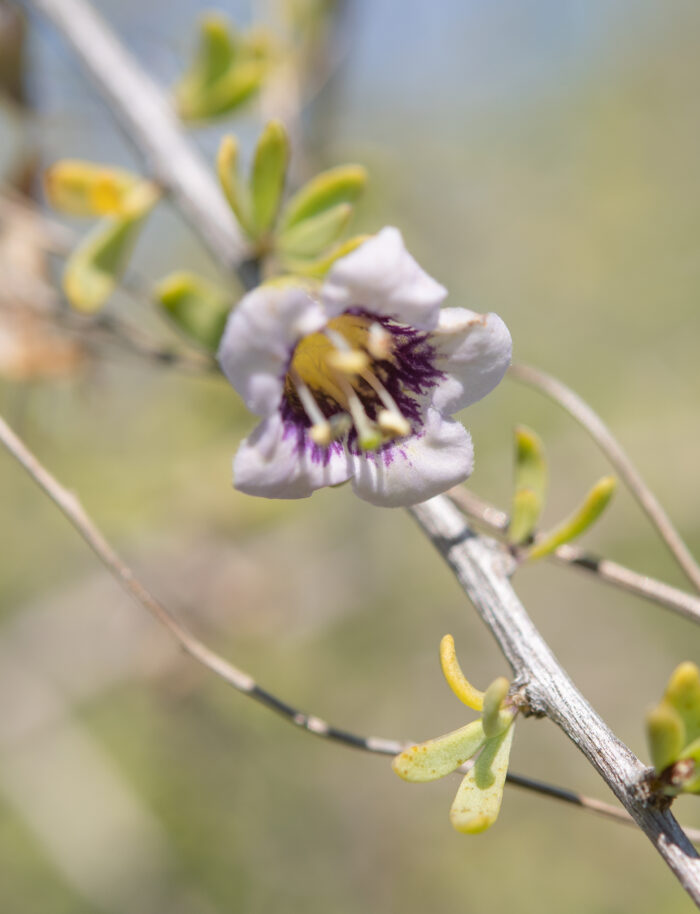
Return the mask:
M445 296L395 228L336 261L318 293L248 293L219 348L263 418L235 456L236 488L305 498L351 480L360 498L399 506L466 479L471 438L449 417L498 384L511 339L495 314L440 310Z

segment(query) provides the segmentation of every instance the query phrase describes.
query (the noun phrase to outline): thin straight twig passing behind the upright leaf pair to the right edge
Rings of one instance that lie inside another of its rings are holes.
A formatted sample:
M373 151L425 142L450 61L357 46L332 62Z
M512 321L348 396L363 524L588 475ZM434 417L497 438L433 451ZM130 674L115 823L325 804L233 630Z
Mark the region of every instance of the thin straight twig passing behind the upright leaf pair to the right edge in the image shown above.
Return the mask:
M463 511L480 527L487 529L489 533L497 536L503 536L506 533L510 519L505 511L495 508L461 486L451 489L448 495L460 511ZM558 565L578 568L592 574L605 584L620 587L622 590L651 600L666 609L672 609L679 615L685 616L686 619L700 622L700 598L686 593L678 587L665 584L663 581L657 581L648 575L632 571L631 568L626 568L610 559L593 555L579 546L572 546L570 543L559 546L551 555L547 556L547 559Z

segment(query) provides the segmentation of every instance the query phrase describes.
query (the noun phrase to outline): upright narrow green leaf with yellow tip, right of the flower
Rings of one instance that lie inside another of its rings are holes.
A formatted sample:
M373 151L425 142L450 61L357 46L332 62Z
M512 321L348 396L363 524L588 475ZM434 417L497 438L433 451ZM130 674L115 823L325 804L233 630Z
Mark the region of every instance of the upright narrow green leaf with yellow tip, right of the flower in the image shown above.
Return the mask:
M508 539L524 543L533 533L547 492L547 460L539 436L525 426L515 430L515 493Z

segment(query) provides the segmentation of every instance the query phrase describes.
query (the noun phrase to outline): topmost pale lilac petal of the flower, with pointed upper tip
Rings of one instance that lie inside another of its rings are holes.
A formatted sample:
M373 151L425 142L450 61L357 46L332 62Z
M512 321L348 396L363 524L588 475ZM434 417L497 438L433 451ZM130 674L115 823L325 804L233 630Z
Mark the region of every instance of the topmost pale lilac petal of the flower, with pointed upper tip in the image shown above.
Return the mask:
M418 266L398 229L384 228L337 260L321 290L331 317L364 308L419 330L437 324L447 291Z

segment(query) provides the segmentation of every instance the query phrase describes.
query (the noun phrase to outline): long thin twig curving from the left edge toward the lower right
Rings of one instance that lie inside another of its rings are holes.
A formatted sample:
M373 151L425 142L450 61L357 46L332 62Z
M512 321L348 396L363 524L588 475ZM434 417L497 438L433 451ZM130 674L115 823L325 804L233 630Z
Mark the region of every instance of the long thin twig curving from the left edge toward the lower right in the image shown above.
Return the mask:
M259 686L251 676L238 667L224 660L219 654L214 653L198 638L196 638L182 623L178 622L172 614L157 600L150 591L141 584L132 569L117 555L104 535L98 530L95 523L86 513L80 501L62 486L58 480L39 462L34 454L27 448L21 439L10 429L7 423L0 418L0 442L9 453L21 464L31 478L43 489L61 513L82 536L100 561L121 584L121 586L134 598L139 606L149 612L166 630L175 638L180 647L189 654L197 663L202 664L214 675L222 678L228 685L249 698L260 702L266 708L280 714L286 721L295 726L302 727L324 739L333 740L378 755L394 756L401 752L407 745L412 745L411 740L386 739L376 736L358 736L347 730L334 727L314 714L304 712L292 707L286 701L268 692ZM464 773L470 764L461 766L458 773ZM583 794L563 787L556 787L544 781L538 781L525 775L509 772L506 778L509 784L529 790L533 793L562 800L585 809L592 810L600 815L615 819L628 825L635 823L628 813ZM700 841L700 831L688 831L693 841Z

